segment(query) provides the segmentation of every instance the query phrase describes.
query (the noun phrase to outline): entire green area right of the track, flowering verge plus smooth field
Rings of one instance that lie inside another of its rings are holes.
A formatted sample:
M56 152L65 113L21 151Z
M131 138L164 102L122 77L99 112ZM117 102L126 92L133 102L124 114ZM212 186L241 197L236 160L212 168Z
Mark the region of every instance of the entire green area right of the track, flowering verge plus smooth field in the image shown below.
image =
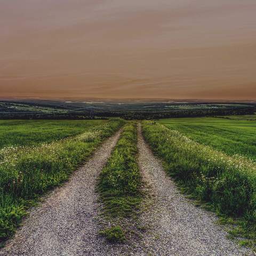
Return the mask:
M184 118L180 122L178 119L159 123L145 121L142 128L146 141L163 159L167 173L177 180L182 190L206 202L223 221L237 225L230 234L248 239L241 240L241 244L255 246L256 165L247 157L254 158L255 149L246 151L246 142L253 148L255 124L243 121L235 124L236 121L217 118ZM223 147L226 139L229 143ZM243 142L237 144L238 140ZM245 156L231 156L237 153L234 145L238 153Z

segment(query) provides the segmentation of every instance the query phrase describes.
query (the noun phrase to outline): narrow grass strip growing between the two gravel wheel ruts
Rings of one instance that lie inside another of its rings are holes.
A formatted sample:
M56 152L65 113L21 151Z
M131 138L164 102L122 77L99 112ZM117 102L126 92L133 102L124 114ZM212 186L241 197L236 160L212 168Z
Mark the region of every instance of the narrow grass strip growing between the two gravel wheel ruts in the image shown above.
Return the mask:
M142 200L141 180L137 164L137 125L129 122L124 126L121 137L100 174L98 183L104 205L103 214L112 223L111 231L116 230L116 222L121 220L124 223L123 219L132 218L138 212ZM120 226L124 233L129 229L125 225ZM108 231L102 234L109 239ZM113 242L112 238L109 240ZM117 242L119 240L117 239Z

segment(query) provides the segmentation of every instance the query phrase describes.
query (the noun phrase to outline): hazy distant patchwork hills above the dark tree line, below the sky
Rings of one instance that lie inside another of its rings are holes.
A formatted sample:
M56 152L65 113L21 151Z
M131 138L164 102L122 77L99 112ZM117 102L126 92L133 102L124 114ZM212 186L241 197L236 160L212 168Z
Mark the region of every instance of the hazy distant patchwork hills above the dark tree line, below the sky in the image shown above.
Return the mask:
M1 113L84 113L84 111L94 108L95 111L169 111L169 110L198 110L198 109L241 109L250 108L251 105L245 103L189 103L189 102L103 102L103 101L28 101L28 102L1 102Z

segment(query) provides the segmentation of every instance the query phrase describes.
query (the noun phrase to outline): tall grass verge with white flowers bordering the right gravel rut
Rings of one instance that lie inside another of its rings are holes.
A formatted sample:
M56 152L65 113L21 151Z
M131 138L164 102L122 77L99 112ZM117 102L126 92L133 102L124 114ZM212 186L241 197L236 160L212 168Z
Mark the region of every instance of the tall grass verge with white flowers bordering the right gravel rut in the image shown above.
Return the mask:
M181 189L230 224L230 235L239 237L241 245L255 248L255 162L244 156L229 156L156 122L144 121L142 129L146 141L163 159L167 173Z

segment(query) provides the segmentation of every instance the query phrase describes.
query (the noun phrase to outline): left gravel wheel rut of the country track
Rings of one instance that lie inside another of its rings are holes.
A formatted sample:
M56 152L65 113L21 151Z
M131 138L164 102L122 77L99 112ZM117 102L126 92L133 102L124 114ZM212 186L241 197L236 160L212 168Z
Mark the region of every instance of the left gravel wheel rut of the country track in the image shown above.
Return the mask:
M98 235L95 184L120 132L109 138L70 180L46 196L0 251L11 256L109 255ZM110 247L110 249L109 249Z

